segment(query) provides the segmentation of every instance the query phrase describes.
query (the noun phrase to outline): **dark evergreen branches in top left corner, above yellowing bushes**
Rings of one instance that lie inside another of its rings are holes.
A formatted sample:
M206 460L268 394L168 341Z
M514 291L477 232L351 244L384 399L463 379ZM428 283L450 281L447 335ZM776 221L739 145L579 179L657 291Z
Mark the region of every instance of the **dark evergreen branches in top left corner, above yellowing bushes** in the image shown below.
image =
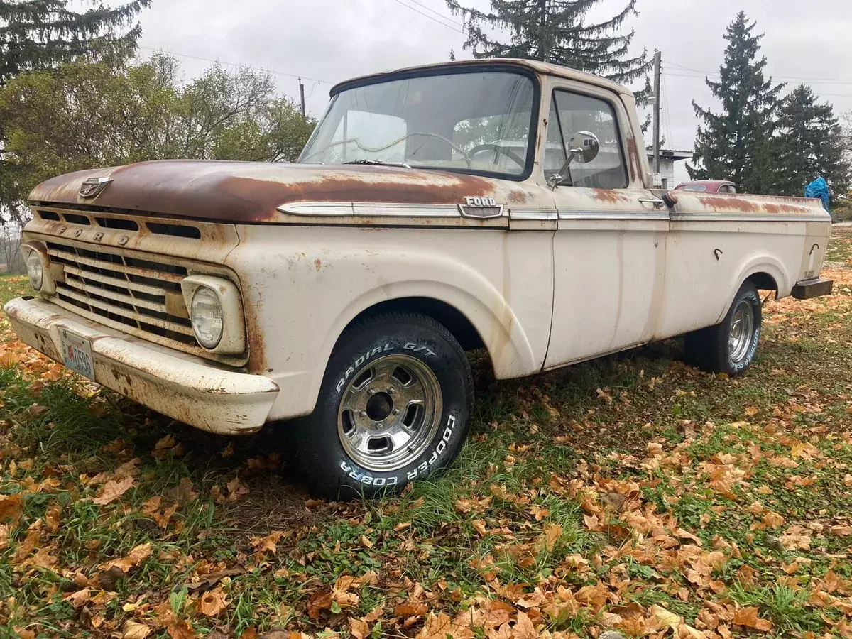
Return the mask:
M93 51L132 53L141 36L133 21L150 3L93 2L93 8L75 11L68 0L0 0L0 86L21 72L53 68Z

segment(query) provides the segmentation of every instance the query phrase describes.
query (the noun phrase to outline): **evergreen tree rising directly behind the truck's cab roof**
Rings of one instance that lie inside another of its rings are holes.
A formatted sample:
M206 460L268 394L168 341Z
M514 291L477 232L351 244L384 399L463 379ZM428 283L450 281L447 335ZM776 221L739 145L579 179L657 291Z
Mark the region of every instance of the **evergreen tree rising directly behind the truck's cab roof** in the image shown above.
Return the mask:
M634 33L619 28L636 12L636 0L609 20L587 24L586 15L602 0L491 0L489 11L463 7L446 0L454 14L463 16L468 39L465 49L475 58L544 60L595 73L618 83L645 76L651 66L646 52L631 57ZM509 42L492 39L484 26L510 32Z

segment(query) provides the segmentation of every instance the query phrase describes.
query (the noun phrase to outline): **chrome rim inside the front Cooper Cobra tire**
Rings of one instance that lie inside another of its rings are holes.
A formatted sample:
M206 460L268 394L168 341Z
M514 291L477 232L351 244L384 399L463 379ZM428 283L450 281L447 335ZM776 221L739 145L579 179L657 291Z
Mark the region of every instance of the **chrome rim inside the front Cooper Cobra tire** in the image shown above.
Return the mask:
M429 366L409 355L386 355L359 371L344 389L337 435L363 468L400 469L429 446L442 411L440 383Z

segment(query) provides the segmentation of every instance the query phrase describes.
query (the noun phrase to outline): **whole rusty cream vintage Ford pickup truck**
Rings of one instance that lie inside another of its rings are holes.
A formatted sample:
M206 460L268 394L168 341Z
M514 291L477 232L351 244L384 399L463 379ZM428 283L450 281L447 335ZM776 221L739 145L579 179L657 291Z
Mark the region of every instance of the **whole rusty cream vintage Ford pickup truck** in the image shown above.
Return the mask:
M26 343L216 433L288 431L315 492L400 488L468 432L466 349L533 375L686 335L736 375L758 289L831 292L819 200L651 188L634 97L529 60L357 78L299 164L160 161L30 195Z

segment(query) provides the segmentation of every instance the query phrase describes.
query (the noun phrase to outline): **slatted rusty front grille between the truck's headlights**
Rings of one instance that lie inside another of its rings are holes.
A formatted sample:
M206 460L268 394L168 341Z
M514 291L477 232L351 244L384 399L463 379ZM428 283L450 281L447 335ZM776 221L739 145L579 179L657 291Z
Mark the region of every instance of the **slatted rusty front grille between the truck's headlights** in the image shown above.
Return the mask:
M48 242L65 281L57 282L53 301L76 313L126 330L130 326L187 345L196 345L181 294L187 269L107 250ZM171 297L172 303L167 302ZM175 313L180 313L180 315ZM108 320L108 321L107 321ZM144 337L144 336L143 336Z

